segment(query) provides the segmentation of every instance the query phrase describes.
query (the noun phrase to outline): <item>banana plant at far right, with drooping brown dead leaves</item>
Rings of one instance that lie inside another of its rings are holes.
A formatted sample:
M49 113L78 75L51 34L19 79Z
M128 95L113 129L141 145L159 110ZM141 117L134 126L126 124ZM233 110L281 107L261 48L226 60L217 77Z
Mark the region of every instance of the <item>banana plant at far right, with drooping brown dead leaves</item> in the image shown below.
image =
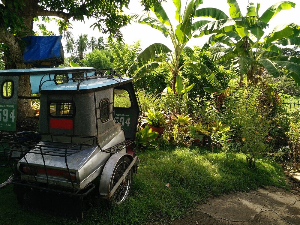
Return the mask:
M249 3L245 16L242 15L236 0L227 0L227 3L230 16L217 8L196 10L195 15L203 19L211 17L216 22L224 19L234 21L233 26L226 27L227 31L216 32L210 36L202 50L205 51L215 43L230 46L228 51L212 55L211 60L231 62L232 69L240 77L240 82L244 78L247 78L247 82L260 82L264 70L273 77L278 77L279 68L288 73L296 85L300 85L300 58L282 55L279 48L279 45L300 45L300 26L286 23L274 27L271 31L267 30L268 22L277 13L294 8L295 3L280 1L263 13L259 13L259 3L256 5Z

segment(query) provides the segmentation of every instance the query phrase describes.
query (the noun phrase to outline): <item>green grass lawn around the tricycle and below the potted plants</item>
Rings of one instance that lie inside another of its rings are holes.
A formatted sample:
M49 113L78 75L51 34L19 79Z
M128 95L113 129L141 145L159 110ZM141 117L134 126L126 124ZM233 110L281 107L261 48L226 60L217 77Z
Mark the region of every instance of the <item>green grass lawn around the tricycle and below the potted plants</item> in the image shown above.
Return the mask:
M138 156L141 163L127 201L119 207L108 208L103 201L96 203L91 195L83 205L81 224L170 222L189 213L211 195L265 185L286 187L278 164L259 160L255 169L249 169L243 154L237 154L234 161L233 157L226 161L223 153L210 153L192 146L149 149ZM0 183L10 174L9 168L0 168ZM169 187L165 186L167 183ZM11 184L0 189L1 224L78 224L22 210L12 189Z

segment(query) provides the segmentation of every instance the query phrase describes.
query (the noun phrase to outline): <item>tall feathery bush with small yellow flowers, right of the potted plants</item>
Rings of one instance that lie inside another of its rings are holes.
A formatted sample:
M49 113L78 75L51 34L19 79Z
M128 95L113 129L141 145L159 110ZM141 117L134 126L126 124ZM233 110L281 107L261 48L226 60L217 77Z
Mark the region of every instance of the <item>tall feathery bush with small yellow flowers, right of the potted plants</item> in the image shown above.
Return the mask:
M271 149L267 139L273 126L271 106L263 104L260 97L259 87L246 86L232 92L226 101L226 118L242 141L241 151L247 155L249 166Z

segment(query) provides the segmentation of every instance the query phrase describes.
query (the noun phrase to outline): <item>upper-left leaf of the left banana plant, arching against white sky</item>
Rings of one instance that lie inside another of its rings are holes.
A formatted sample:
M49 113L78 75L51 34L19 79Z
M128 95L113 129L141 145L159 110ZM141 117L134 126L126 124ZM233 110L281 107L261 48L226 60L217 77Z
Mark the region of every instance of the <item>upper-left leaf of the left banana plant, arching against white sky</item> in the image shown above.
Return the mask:
M168 37L168 35L170 34L169 29L165 26L164 23L162 23L161 21L159 21L159 19L147 16L147 15L143 15L143 14L129 14L129 17L134 22L138 22L140 24L149 25L152 28L157 29L157 30L163 32L163 34L165 35L165 37Z

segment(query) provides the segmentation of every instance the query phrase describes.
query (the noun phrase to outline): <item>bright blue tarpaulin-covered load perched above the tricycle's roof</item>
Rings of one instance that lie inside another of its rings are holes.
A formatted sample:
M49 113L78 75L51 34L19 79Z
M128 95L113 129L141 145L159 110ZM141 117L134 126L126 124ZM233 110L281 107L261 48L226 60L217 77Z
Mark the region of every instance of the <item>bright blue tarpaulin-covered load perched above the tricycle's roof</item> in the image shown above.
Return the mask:
M28 36L22 38L26 43L23 62L35 67L52 67L64 62L62 36Z

